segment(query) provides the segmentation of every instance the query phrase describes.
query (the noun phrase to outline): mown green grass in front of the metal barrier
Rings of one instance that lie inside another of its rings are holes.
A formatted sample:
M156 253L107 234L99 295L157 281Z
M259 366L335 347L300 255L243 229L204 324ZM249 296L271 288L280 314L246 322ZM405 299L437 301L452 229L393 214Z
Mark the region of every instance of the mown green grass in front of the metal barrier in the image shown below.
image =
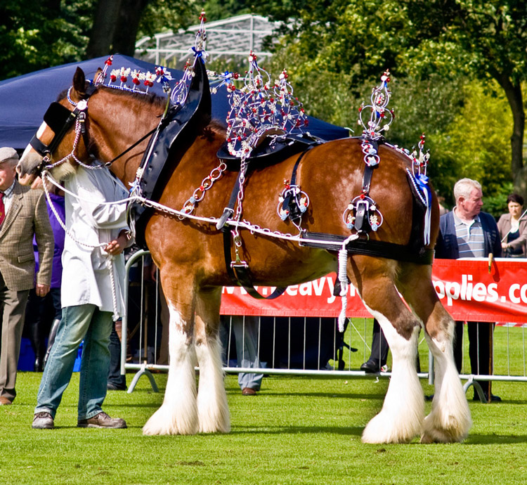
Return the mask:
M78 374L56 429L32 429L41 373L19 373L13 406L0 407L0 484L522 484L527 480L527 387L497 382L502 403L472 403L463 444L365 445L360 434L387 379L266 377L256 397L226 377L232 431L145 437L167 375L151 392L112 391L105 410L128 429L77 428ZM132 375L128 375L128 382ZM432 388L422 381L424 392ZM430 403L426 404L427 410Z

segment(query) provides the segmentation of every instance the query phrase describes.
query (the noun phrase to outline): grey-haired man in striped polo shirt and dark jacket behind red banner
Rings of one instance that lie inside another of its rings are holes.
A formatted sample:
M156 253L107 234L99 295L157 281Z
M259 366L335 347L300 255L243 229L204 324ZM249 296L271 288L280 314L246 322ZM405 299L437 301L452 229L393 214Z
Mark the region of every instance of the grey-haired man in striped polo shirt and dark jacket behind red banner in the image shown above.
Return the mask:
M500 233L493 216L481 212L481 184L461 179L454 186L455 207L441 216L441 233L436 244L436 257L441 259L494 257L501 255ZM469 356L473 374L490 375L490 336L494 326L488 322L468 322ZM463 322L456 322L454 356L457 370L462 364ZM487 400L501 401L490 392L490 382L479 381ZM479 396L474 392L474 401Z

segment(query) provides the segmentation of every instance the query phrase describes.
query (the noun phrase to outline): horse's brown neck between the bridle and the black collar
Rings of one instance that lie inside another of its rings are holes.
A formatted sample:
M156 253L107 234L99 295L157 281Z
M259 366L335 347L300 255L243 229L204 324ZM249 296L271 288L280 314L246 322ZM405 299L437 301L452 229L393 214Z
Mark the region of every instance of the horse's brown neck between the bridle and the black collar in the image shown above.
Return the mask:
M110 162L139 141L159 123L163 108L157 103L143 101L134 96L101 91L90 101L93 119L91 139L97 155L103 162ZM127 186L134 180L141 163L148 139L112 163L111 170Z

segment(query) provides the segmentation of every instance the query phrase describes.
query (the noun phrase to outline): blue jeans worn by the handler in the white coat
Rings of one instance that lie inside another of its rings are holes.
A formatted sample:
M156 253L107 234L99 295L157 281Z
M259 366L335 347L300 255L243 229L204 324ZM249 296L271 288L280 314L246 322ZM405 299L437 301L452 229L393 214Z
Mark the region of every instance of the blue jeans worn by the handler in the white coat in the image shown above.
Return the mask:
M63 316L44 369L37 396L35 413L46 411L53 418L73 373L77 350L82 340L81 372L79 382L79 420L100 413L106 397L108 369L110 368L110 332L112 313L100 311L97 306L83 304L63 308Z

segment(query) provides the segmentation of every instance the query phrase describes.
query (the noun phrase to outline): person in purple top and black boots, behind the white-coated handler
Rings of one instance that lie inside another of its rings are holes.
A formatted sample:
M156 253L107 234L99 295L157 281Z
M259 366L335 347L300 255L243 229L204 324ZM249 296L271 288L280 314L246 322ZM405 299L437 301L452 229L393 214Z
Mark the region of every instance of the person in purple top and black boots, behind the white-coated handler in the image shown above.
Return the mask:
M56 195L51 193L50 198L53 203L53 208L57 212L61 221L64 221L64 195L61 193ZM47 356L57 331L57 326L60 321L62 309L60 308L60 281L63 276L63 265L61 257L64 249L65 232L58 222L53 209L51 209L49 202L46 201L48 207L49 221L53 229L53 237L55 238L55 247L53 249L53 269L51 271L51 290L45 297L37 296L35 290L30 291L30 296L27 301L25 326L30 332L31 346L35 354L34 370L42 371L46 365ZM33 240L34 255L36 261L35 273L39 271L39 253L37 251L37 243ZM49 337L48 337L49 336ZM46 349L46 337L48 337L48 345Z

